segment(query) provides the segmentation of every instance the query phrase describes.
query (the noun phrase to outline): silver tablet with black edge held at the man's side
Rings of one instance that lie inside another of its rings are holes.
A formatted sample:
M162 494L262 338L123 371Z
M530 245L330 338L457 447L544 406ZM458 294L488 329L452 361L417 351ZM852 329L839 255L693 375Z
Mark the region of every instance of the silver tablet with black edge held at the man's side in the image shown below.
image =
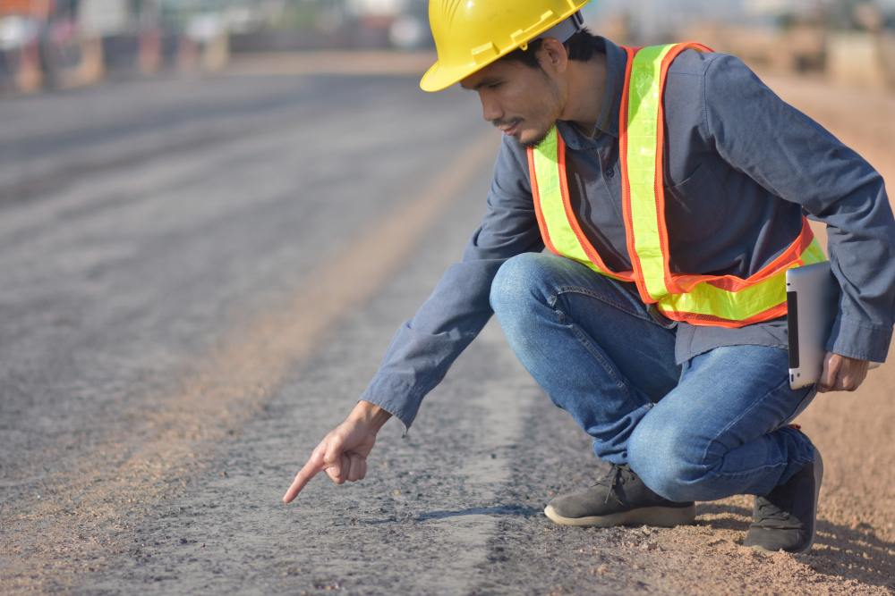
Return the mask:
M824 261L789 269L786 290L789 387L799 389L821 378L827 340L839 315L840 285ZM870 363L870 368L877 366Z

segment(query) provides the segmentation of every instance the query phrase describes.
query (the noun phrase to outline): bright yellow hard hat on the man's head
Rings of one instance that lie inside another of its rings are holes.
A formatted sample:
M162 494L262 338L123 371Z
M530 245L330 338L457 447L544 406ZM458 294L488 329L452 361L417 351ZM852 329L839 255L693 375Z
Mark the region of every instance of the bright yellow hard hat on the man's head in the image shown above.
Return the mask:
M440 91L577 13L590 0L430 0L439 61L422 77ZM562 39L561 41L565 41Z

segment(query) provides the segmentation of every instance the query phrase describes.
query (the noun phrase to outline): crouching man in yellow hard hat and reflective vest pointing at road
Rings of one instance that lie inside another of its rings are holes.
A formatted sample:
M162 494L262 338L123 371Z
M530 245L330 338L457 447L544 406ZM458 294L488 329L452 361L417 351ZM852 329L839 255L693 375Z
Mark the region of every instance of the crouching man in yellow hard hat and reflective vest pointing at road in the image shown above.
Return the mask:
M679 525L751 494L745 544L805 552L823 462L788 426L815 388L789 388L784 276L826 258L804 214L825 222L842 294L816 390L857 389L892 334L882 177L737 58L621 48L582 27L587 1L431 0L422 88L459 81L505 134L489 211L285 500L323 470L362 479L382 424L413 423L493 312L611 465L550 519Z

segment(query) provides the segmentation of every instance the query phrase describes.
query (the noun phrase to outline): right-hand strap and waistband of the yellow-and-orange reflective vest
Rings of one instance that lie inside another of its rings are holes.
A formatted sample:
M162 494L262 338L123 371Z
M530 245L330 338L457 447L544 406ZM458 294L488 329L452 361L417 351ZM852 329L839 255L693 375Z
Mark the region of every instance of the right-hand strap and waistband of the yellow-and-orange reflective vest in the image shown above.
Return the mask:
M664 315L678 321L731 327L766 321L786 312L786 270L825 258L804 218L797 239L746 280L670 270L662 94L670 64L686 49L712 51L693 43L626 49L619 151L628 251L637 289L644 302L657 303Z

